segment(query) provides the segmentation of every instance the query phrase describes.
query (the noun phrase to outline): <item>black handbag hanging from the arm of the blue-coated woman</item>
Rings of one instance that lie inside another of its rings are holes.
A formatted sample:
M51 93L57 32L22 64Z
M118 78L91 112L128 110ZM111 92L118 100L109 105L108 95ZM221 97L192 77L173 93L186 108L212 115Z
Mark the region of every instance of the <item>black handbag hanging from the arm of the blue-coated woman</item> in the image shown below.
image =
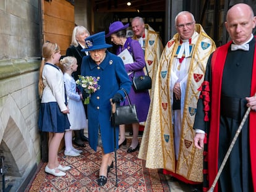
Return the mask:
M127 106L117 106L113 104L114 109L112 108L111 113L111 122L113 126L122 125L122 124L132 124L139 123L137 116L137 109L135 104L130 104L130 98L126 93L126 90L121 89L126 94L129 105Z

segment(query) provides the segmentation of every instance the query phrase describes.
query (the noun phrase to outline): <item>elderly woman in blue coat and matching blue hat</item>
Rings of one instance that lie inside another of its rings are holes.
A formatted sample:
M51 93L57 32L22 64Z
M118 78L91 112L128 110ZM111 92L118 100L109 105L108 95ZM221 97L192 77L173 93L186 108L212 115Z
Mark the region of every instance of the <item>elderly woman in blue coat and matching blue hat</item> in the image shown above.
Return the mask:
M113 167L114 140L118 140L119 129L111 125L111 102L118 103L124 99L124 89L129 93L131 81L124 69L120 57L107 50L111 44L106 44L105 31L96 33L85 39L85 49L89 56L83 57L81 75L98 78L100 89L90 95L88 104L88 136L89 144L96 151L99 136L102 142L102 161L98 178L98 185L107 182L109 168ZM83 91L84 93L85 91ZM83 94L85 97L85 94ZM114 138L114 128L116 138ZM116 149L118 144L116 142Z

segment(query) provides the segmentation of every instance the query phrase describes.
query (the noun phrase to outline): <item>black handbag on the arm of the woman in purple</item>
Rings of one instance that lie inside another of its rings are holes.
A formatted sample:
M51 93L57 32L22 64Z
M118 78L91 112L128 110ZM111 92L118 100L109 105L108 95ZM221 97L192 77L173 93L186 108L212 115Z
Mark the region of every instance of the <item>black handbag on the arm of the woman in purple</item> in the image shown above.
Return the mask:
M145 65L147 70L147 75L140 75L139 77L135 77L134 71L134 78L132 79L132 85L134 87L135 92L142 92L146 90L150 90L152 86L151 77L148 75L147 64Z

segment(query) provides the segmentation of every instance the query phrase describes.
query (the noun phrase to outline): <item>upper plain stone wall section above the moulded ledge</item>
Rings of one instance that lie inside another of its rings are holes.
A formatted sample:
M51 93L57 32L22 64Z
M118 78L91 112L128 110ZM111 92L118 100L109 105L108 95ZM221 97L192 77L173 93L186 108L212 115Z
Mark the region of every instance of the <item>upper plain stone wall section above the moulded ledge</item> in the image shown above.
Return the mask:
M39 3L0 1L0 60L40 56Z

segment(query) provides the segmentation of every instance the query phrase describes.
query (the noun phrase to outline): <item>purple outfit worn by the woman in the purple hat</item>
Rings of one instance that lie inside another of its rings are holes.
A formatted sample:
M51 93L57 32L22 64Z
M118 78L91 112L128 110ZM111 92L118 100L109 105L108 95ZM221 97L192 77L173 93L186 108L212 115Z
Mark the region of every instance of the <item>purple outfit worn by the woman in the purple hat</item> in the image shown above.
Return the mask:
M127 73L132 72L129 75L129 80L132 81L132 79L134 78L134 71L136 77L140 75L145 75L143 67L145 67L146 63L144 58L144 52L139 42L136 40L132 40L131 38L127 38L124 47L119 46L116 54L118 55L120 52L124 51L124 49L127 49L134 58L134 63L124 65ZM145 122L147 119L148 109L150 106L150 96L148 91L135 93L134 88L132 87L130 89L129 98L132 104L135 104L137 108L139 122ZM126 101L124 101L123 104L128 104L127 99Z

